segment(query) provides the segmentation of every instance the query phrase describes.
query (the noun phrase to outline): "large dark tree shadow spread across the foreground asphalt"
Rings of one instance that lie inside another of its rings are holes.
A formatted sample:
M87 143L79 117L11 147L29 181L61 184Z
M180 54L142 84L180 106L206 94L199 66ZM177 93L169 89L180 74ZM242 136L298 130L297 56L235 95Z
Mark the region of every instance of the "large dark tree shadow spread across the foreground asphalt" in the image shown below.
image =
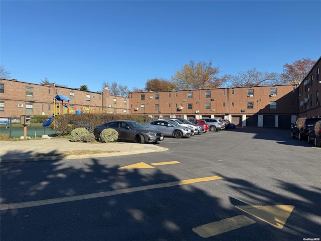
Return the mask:
M142 156L153 160L153 154ZM278 179L275 179L278 193L245 179L215 173L223 179L165 188L142 188L119 195L90 196L180 181L157 168L119 169L121 164L128 165L135 158L137 156L1 163L1 204L80 195L87 198L2 210L2 240L204 240L192 230L193 227L236 215L246 215L256 223L211 239L302 240L302 237L318 234L319 223L309 217L319 212L319 190L305 190ZM202 189L203 186L213 191L208 193ZM222 188L230 189L233 199L220 197ZM293 197L288 196L289 193ZM249 203L252 205L291 204L295 211L286 228L277 229L236 209L231 200L242 197L244 202L252 200ZM310 211L306 212L307 209Z

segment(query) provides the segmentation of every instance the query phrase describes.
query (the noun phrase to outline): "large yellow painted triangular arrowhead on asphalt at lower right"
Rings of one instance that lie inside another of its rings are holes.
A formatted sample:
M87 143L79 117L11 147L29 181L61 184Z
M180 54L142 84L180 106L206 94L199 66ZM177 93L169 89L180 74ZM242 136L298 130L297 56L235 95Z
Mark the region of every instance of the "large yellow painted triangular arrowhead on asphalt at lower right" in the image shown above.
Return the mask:
M294 208L292 205L242 205L235 207L277 228L283 228L283 225Z

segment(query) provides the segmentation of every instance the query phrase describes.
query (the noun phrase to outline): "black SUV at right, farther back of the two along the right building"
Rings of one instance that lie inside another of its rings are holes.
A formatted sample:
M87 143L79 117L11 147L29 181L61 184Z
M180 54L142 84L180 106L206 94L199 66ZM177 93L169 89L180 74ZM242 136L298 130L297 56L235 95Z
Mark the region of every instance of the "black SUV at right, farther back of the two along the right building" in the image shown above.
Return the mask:
M297 137L300 141L307 137L307 133L321 117L301 117L291 126L291 138Z

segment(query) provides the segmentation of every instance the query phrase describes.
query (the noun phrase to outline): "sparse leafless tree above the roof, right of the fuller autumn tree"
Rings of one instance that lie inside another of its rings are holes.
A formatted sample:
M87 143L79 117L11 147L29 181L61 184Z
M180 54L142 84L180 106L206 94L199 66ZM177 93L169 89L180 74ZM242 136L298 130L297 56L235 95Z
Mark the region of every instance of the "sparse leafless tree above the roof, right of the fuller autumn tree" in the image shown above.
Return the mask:
M246 72L240 71L239 75L231 77L231 83L234 87L261 86L277 84L278 74L257 71L256 68L249 69Z

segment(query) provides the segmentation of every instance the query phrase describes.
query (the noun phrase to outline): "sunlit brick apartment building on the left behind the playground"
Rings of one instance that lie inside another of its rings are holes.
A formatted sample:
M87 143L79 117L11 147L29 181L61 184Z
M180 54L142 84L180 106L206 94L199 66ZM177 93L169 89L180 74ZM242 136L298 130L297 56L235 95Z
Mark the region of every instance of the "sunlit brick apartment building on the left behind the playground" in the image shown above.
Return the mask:
M109 95L108 89L96 93L55 84L44 85L15 79L0 79L0 117L25 114L51 116L54 113L53 101L57 94L66 95L70 99L70 109L74 111L128 113L128 98Z

